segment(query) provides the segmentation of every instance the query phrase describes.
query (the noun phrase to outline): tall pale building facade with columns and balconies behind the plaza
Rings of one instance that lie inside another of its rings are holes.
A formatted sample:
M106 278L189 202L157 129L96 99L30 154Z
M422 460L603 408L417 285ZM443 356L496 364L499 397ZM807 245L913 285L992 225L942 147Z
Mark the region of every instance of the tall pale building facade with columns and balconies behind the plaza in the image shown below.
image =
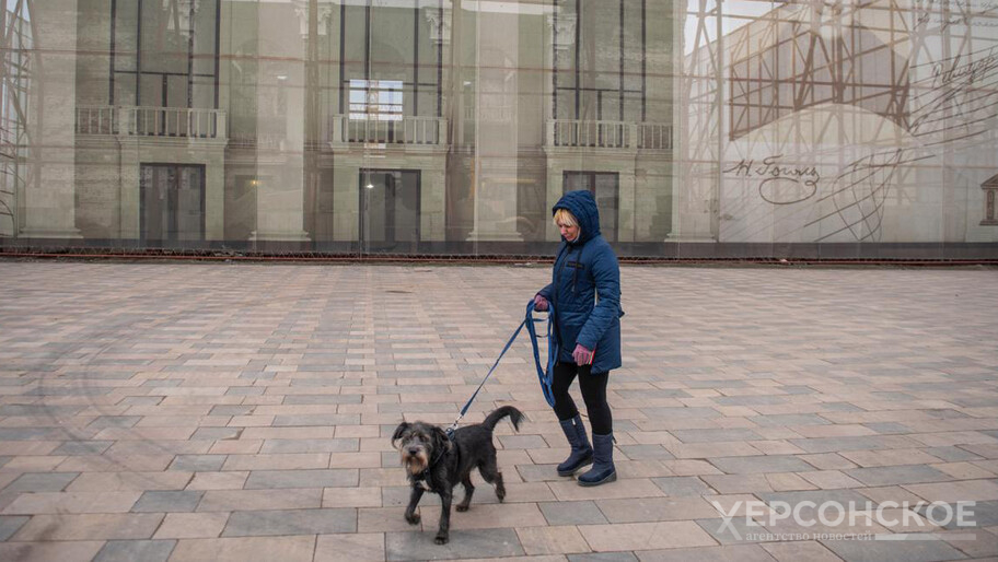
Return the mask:
M4 8L4 247L998 256L986 0Z

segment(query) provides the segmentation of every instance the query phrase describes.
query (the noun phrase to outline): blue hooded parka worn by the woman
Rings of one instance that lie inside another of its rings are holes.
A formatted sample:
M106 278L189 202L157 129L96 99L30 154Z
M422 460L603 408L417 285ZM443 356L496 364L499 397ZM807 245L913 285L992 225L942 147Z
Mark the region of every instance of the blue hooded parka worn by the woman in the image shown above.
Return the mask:
M558 361L575 363L576 344L593 350L592 372L620 366L620 268L600 234L600 211L589 191L569 191L552 208L566 209L579 221L579 237L561 238L552 283L537 294L555 304Z

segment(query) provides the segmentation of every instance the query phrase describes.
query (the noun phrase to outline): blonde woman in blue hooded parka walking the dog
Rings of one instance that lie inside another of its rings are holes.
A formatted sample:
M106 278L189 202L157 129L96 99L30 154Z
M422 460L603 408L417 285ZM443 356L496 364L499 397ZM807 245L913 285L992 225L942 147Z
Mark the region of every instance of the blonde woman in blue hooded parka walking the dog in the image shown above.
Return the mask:
M534 308L555 305L558 358L553 374L555 414L571 445L571 454L558 465L558 476L575 475L580 485L613 482L613 418L606 403L610 371L620 366L620 268L617 256L600 235L600 212L589 191L569 191L552 209L561 231L552 283L534 296ZM592 425L593 444L575 401L568 394L579 378L582 400Z

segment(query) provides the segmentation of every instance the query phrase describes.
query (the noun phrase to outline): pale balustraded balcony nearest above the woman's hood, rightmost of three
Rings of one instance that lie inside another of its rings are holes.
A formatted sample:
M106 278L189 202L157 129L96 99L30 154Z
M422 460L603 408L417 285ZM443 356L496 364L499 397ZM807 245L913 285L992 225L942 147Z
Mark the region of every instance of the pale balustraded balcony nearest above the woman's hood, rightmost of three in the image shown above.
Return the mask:
M553 119L546 124L545 147L600 150L672 150L672 126L655 122Z

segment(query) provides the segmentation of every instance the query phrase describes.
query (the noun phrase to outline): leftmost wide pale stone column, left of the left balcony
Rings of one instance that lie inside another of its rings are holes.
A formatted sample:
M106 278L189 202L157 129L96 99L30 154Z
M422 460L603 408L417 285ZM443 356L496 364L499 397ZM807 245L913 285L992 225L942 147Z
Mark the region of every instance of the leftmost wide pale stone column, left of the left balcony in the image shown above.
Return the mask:
M30 185L23 187L24 238L80 238L76 226L77 0L32 4L35 49L27 101Z

